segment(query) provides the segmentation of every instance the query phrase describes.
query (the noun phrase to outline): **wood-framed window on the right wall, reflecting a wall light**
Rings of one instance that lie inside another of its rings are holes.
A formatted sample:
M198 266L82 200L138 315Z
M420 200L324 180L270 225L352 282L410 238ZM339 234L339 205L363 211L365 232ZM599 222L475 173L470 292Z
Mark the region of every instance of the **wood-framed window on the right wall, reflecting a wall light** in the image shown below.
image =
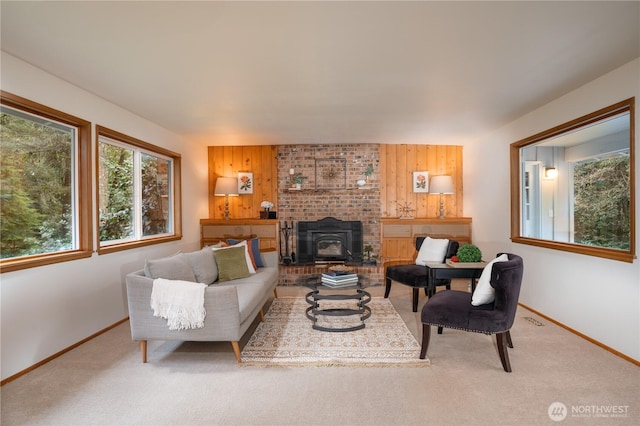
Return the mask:
M514 242L633 262L634 102L511 145Z

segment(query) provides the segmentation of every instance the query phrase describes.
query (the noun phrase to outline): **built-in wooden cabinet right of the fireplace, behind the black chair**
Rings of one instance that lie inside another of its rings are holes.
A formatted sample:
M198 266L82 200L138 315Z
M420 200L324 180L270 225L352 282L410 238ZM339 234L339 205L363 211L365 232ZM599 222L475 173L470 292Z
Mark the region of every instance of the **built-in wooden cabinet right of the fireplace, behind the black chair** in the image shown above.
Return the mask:
M413 259L416 237L448 238L460 244L471 243L471 218L391 219L383 218L380 236L382 258L386 261Z

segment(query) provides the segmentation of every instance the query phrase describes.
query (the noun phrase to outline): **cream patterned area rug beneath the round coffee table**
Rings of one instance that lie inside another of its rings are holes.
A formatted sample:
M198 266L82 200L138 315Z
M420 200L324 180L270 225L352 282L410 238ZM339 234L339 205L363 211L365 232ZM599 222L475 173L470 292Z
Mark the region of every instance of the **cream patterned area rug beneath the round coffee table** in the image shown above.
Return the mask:
M324 301L322 308L337 308L348 301ZM389 301L374 297L371 317L362 330L333 333L314 330L305 315L304 298L273 301L242 350L241 365L261 366L428 366L420 359L420 344ZM356 321L355 323L353 321ZM359 323L357 316L325 317L318 324L345 327Z

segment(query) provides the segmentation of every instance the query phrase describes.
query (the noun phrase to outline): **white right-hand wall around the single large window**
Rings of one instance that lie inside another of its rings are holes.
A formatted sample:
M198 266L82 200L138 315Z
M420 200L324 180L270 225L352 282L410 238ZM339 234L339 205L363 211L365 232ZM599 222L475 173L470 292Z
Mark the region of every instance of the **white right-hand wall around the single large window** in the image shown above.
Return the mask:
M464 148L464 210L485 253L524 259L520 301L578 332L640 360L640 263L601 259L510 241L509 145L616 102L636 97L640 129L640 60L636 59L515 120ZM495 167L500 164L501 167ZM635 144L636 242L640 243L640 146ZM525 315L520 311L519 315ZM514 336L517 340L517 336ZM516 343L517 344L517 343Z

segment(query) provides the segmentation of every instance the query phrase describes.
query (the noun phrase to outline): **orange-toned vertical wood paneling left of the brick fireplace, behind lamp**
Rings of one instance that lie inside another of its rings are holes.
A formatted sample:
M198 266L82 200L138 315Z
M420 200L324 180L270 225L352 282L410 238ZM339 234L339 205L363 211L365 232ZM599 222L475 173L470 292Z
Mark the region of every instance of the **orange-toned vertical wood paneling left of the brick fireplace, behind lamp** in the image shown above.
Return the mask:
M209 156L209 218L224 219L224 197L213 191L219 176L235 177L238 172L253 172L253 194L229 197L229 215L233 219L260 217L260 204L278 199L278 147L210 146Z

